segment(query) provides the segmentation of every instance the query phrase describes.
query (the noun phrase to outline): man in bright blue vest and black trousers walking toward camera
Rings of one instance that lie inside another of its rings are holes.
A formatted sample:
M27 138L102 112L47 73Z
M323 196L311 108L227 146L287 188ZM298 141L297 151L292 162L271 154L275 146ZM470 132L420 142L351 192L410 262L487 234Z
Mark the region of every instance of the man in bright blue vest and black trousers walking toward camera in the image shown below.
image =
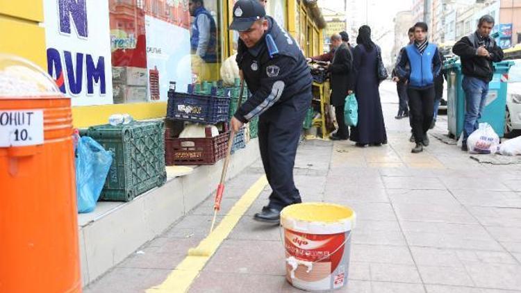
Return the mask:
M416 146L412 153L420 153L429 146L427 131L434 115L434 78L440 74L441 58L436 44L427 41L427 24L414 25L414 43L405 47L396 73L407 83L407 97L412 114Z

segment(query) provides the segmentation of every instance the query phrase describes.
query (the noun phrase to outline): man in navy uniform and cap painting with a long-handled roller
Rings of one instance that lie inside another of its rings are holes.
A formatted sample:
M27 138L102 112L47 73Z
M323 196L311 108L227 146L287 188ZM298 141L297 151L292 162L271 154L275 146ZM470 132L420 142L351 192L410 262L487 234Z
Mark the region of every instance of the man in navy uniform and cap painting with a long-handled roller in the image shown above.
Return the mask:
M258 140L270 203L254 219L280 221L286 206L300 203L293 180L299 136L311 104L313 78L297 42L266 12L258 0L239 0L233 6L231 30L245 45L237 56L251 92L231 119L233 131L259 116Z

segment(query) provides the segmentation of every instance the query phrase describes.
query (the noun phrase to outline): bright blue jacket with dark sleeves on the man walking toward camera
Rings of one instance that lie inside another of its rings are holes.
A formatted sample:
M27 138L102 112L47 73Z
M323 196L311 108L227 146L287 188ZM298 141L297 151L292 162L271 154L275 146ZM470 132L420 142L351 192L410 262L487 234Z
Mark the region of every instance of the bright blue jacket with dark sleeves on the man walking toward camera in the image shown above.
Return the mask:
M408 80L408 86L428 88L434 85L434 78L440 74L441 57L436 44L428 44L423 53L415 44L405 47L402 58L395 67L397 76Z

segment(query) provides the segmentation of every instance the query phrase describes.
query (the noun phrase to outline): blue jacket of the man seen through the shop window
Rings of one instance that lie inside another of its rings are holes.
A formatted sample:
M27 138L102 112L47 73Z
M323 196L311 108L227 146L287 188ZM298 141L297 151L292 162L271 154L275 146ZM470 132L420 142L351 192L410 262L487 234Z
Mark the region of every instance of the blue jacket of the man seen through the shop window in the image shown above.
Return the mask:
M201 17L207 17L210 22L210 27L200 28L198 21ZM204 30L204 31L203 31ZM199 44L200 35L209 35L206 44ZM202 46L201 48L199 48ZM198 53L201 58L207 63L217 62L217 26L213 20L210 12L204 7L200 7L195 11L195 19L192 23L192 36L190 37L190 47L192 53Z

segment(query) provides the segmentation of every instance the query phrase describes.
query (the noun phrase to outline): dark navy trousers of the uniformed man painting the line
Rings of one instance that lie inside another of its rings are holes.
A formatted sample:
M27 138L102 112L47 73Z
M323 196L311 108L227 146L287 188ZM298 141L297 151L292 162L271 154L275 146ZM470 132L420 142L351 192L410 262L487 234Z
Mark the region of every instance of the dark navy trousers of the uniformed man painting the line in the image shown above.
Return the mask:
M272 187L268 207L276 210L302 201L295 187L293 167L302 123L311 103L311 89L299 96L268 109L258 121L261 159Z

